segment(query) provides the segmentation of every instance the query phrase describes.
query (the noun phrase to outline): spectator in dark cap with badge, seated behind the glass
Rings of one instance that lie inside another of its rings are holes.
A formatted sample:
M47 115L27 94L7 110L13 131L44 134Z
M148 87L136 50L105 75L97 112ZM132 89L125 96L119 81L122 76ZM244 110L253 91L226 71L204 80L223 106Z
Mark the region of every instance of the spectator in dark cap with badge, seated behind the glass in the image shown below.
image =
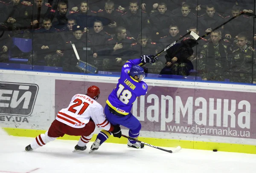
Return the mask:
M92 44L87 40L87 34L83 34L84 28L82 26L76 24L72 27L72 31L73 37L65 45L63 71L83 72L76 68L78 60L71 43L74 43L80 60L84 62L93 56Z

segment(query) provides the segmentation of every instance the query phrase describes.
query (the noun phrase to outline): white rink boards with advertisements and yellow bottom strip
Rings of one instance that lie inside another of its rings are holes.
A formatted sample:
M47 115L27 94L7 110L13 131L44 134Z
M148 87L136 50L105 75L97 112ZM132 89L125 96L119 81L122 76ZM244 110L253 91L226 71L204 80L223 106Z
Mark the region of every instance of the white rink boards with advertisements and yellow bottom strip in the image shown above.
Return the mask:
M75 94L97 85L105 107L118 77L1 70L0 126L10 135L44 133ZM132 113L140 140L162 147L256 153L256 87L212 82L145 79L148 92ZM97 131L97 133L99 130ZM122 132L128 134L123 128ZM78 140L79 136L61 139ZM93 140L95 136L93 137ZM125 138L108 142L126 143Z

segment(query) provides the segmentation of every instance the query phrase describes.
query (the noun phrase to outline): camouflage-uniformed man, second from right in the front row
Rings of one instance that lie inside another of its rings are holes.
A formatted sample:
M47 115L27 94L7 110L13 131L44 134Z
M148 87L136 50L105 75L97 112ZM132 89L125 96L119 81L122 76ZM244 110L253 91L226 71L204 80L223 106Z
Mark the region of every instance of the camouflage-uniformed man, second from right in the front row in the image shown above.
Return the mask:
M228 79L228 59L231 54L231 47L224 40L221 40L221 31L213 31L211 40L203 45L201 49L198 62L198 71L201 74L201 78L213 81Z

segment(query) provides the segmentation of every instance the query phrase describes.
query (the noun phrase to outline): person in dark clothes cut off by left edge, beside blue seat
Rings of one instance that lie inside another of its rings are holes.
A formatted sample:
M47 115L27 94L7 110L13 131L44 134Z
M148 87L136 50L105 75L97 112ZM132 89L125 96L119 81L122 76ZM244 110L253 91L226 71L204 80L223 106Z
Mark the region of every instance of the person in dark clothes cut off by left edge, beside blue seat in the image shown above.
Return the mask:
M0 37L0 62L9 62L8 51L12 46L12 38L7 32Z

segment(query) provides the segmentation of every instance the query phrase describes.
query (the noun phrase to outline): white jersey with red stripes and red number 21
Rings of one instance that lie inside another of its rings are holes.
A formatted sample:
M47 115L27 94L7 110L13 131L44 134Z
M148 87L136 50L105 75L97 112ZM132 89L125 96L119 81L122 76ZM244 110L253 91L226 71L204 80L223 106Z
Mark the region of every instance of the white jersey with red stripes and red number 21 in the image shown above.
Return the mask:
M73 96L68 107L58 112L56 120L73 128L83 128L90 118L99 128L113 130L113 125L108 122L103 113L102 105L84 94Z

